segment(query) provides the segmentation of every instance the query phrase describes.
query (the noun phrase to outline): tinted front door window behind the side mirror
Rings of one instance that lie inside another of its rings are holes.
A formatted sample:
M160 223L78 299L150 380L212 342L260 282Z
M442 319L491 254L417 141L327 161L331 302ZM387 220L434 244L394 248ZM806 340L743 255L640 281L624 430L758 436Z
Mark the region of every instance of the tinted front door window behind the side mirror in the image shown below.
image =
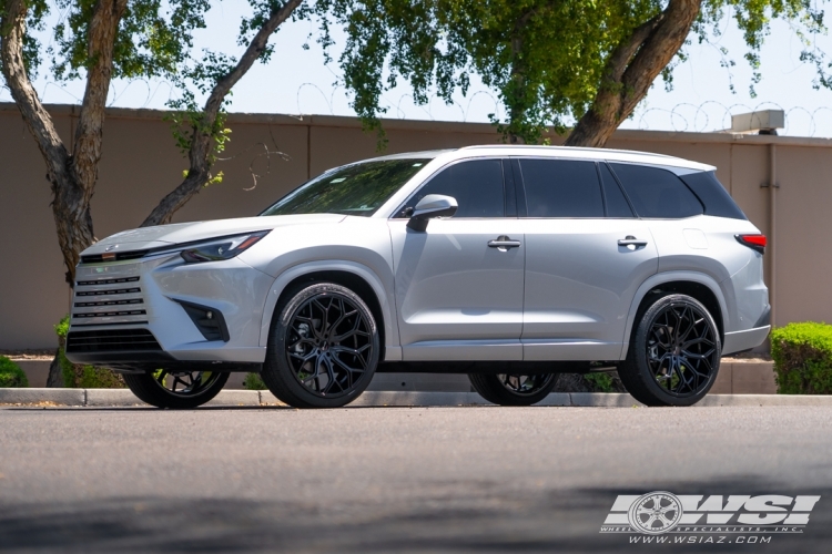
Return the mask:
M399 212L408 211L428 194L444 194L456 198L459 208L454 217L503 217L506 213L503 195L503 162L475 160L460 162L443 170L419 188Z

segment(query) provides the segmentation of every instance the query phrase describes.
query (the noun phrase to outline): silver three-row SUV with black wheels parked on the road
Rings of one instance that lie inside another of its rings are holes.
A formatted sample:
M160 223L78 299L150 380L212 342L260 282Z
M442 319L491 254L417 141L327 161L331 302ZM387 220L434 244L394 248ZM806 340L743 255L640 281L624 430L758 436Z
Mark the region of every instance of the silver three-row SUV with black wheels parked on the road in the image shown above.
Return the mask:
M200 406L230 371L333 408L376 371L467 373L498 404L617 368L689 406L769 332L765 237L676 157L474 146L337 167L258 217L126 230L82 254L67 356Z

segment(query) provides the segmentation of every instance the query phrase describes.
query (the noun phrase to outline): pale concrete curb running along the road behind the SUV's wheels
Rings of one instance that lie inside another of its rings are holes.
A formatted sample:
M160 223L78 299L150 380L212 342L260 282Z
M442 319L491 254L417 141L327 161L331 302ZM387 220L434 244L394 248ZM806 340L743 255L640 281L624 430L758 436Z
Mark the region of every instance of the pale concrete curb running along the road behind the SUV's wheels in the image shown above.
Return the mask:
M128 407L146 406L126 389L0 389L0 404L18 406L78 406L78 407ZM206 406L261 407L285 406L267 390L223 390ZM490 406L476 392L396 392L368 391L349 407L450 407ZM555 392L537 406L584 408L632 408L641 407L629 394L595 392ZM723 406L828 406L832 396L800 394L709 394L697 404L699 408Z

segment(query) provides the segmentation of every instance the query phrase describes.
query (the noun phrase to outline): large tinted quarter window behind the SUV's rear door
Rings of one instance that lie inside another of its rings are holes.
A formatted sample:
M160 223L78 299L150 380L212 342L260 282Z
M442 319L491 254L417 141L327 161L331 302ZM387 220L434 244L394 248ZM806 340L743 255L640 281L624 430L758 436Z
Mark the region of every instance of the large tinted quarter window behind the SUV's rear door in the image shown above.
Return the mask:
M702 204L673 173L643 165L610 165L639 217L672 219L702 214Z

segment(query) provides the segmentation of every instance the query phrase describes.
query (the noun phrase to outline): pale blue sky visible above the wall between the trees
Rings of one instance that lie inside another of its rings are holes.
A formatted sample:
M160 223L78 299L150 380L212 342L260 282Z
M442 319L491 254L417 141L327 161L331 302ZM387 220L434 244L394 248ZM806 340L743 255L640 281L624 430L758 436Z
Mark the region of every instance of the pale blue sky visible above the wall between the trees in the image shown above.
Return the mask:
M207 14L207 29L195 37L197 49L211 48L240 54L236 45L239 21L248 12L245 0L215 2ZM51 21L64 14L52 10ZM337 63L326 65L321 47L314 41L316 27L308 21L284 24L273 37L275 52L267 64L256 64L233 91L230 111L247 113L354 115L346 91L337 86ZM313 33L310 41L307 37ZM50 37L42 37L45 43ZM337 60L343 34L335 34L333 50ZM308 42L310 49L302 44ZM832 53L830 37L821 37L819 47ZM730 71L720 66L719 47L728 49L728 58L737 65ZM751 98L751 70L742 55L745 47L740 31L726 22L719 40L712 44L688 47L689 59L674 70L673 90L668 92L661 80L638 106L623 129L670 131L719 131L730 127L730 114L764 109L787 113L787 127L780 134L793 136L832 136L832 91L815 90L813 66L799 60L801 43L784 22L773 22L761 52L762 82L757 98ZM42 72L45 73L45 72ZM406 83L383 96L387 117L487 122L489 113L503 113L497 94L481 82L471 80L467 96L456 94L455 103L446 105L434 99L428 105L415 105ZM730 84L734 84L731 92ZM80 103L83 83L55 83L42 74L35 81L40 98L47 103ZM164 81L113 82L109 105L119 107L164 109L165 102L179 91ZM0 88L0 102L11 101L8 90Z

